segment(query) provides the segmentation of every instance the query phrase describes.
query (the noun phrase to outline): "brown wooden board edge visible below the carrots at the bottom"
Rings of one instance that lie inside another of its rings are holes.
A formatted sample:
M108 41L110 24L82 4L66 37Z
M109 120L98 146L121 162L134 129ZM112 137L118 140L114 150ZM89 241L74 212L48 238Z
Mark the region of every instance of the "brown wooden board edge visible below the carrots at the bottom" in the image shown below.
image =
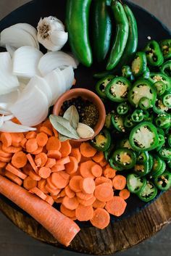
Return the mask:
M162 194L141 212L111 223L102 231L93 227L81 228L67 249L93 255L107 255L133 247L171 222L170 199L171 190ZM28 235L55 247L62 247L36 220L14 209L3 198L0 198L0 210Z

